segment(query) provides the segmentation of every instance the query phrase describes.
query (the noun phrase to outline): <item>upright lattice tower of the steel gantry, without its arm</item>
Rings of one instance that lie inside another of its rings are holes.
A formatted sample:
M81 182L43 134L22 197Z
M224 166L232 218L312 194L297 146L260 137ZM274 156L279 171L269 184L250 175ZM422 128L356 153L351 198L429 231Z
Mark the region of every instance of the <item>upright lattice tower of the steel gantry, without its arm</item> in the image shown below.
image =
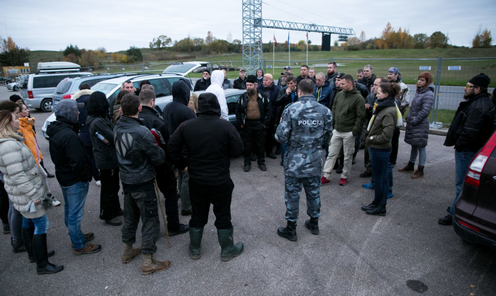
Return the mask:
M250 74L262 65L262 27L256 19L262 19L262 1L243 0L243 68Z

